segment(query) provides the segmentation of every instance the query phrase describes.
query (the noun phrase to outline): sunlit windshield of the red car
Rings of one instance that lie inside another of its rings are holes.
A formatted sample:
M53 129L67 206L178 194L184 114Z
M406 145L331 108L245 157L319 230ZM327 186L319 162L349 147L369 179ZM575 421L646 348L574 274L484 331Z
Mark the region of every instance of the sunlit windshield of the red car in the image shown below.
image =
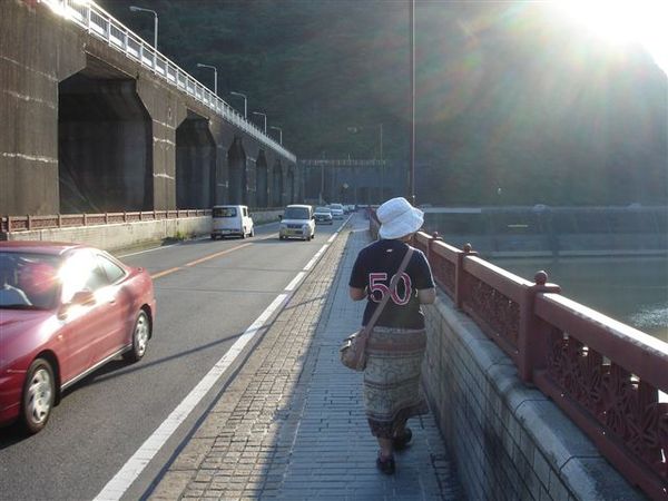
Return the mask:
M58 256L0 252L0 308L52 308L60 285L59 268Z

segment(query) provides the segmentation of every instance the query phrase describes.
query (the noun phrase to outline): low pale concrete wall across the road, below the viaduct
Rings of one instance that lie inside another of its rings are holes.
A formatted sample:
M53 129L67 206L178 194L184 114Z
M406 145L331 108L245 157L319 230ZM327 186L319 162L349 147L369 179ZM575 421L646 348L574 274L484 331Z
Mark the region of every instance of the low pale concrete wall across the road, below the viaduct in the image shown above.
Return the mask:
M276 222L279 214L283 214L283 210L250 213L255 225ZM117 250L160 243L165 238L189 238L198 235L208 235L210 230L212 217L200 216L119 223L115 225L12 232L4 236L8 240L72 242L92 245L105 250Z

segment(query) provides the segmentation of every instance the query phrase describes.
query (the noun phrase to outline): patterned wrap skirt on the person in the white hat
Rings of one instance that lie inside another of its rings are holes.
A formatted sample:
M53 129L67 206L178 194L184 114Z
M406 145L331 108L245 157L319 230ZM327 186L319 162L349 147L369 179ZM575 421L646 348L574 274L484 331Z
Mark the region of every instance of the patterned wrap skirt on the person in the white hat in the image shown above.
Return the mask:
M374 327L366 343L364 407L374 436L391 439L409 418L426 414L420 384L424 330Z

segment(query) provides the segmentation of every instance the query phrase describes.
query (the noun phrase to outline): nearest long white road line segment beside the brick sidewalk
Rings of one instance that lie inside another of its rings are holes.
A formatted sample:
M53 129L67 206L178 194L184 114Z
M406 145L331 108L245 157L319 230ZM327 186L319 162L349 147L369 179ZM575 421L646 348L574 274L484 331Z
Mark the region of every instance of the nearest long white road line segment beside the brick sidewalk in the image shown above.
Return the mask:
M171 414L158 426L158 429L141 444L132 456L124 464L116 475L102 488L96 500L119 500L128 490L137 477L144 471L150 460L165 445L176 429L186 420L193 409L204 399L209 390L220 379L223 373L236 360L253 337L264 326L272 314L279 308L288 297L288 294L279 294L273 303L257 317L253 324L239 336L232 347L216 362L212 370L195 386L190 393L171 411Z

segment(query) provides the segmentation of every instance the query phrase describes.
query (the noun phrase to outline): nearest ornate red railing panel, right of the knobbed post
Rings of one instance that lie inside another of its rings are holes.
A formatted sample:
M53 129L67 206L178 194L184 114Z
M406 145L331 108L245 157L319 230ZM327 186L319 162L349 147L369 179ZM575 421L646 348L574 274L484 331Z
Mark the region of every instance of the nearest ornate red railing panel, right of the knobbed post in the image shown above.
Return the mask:
M536 316L546 335L536 353L538 387L622 474L666 499L666 343L557 294L537 296Z

